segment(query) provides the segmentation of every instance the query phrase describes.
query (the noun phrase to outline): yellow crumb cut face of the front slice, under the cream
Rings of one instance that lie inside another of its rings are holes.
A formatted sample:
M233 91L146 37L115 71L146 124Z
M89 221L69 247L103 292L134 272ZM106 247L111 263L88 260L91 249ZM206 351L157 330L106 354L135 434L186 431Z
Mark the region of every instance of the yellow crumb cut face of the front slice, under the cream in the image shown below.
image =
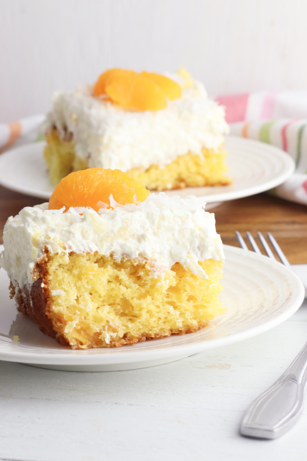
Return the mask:
M191 333L224 311L220 261L199 263L208 279L180 263L154 278L151 261L97 253L47 255L43 264L46 314L73 349Z

